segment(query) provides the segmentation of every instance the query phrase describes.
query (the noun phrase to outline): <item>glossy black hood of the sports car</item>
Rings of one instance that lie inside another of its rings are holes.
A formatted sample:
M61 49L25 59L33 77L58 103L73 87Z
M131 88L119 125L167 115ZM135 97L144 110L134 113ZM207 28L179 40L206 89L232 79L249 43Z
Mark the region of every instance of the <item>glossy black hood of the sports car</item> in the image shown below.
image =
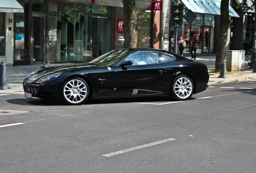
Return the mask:
M81 70L95 69L100 67L103 67L103 66L98 66L93 64L81 64L81 65L48 67L48 68L43 68L38 70L35 75L33 75L32 77L27 77L25 78L25 80L38 81L41 78L44 78L45 76L51 76L53 74L58 74L58 73L64 74L67 72L74 73L74 72L79 72ZM61 77L60 77L60 80L61 80Z

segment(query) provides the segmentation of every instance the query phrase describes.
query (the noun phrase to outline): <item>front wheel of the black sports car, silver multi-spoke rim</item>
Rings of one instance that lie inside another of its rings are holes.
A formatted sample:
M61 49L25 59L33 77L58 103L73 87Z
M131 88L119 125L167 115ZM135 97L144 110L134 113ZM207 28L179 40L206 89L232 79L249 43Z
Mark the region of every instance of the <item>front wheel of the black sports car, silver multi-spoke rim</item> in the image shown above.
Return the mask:
M62 100L68 105L81 105L89 96L89 86L81 78L66 80L61 89Z

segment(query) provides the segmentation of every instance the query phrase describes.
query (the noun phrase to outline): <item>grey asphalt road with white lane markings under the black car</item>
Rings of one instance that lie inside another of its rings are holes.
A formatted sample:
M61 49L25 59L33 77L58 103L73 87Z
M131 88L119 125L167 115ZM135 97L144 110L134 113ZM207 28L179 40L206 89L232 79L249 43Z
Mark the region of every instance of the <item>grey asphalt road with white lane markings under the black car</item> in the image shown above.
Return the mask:
M184 102L0 95L0 173L256 173L255 96L256 80Z

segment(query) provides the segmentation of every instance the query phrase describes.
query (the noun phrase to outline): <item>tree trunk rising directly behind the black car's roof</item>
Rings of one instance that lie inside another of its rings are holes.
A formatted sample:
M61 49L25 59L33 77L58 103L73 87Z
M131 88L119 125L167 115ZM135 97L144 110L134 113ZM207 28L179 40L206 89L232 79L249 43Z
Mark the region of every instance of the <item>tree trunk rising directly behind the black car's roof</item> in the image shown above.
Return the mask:
M137 10L135 0L123 0L124 4L124 48L136 48L138 41Z

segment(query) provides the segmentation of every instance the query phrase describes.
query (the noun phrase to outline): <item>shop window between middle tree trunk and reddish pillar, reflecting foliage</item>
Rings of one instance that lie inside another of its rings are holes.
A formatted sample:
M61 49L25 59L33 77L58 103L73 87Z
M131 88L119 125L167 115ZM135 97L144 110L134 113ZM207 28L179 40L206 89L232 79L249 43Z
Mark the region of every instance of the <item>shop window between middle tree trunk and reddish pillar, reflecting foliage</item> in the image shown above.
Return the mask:
M138 41L137 47L151 47L151 10L137 10Z

